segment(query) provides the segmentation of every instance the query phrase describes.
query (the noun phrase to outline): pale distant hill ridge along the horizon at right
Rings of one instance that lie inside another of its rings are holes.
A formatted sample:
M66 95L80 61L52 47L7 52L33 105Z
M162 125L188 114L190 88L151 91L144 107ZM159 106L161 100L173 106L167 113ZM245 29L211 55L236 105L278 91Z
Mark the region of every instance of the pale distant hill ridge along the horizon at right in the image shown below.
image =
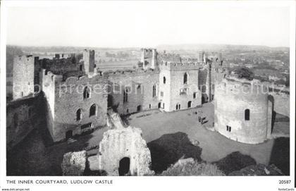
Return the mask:
M289 47L267 47L259 45L234 45L234 44L161 44L159 50L204 50L204 51L289 51Z

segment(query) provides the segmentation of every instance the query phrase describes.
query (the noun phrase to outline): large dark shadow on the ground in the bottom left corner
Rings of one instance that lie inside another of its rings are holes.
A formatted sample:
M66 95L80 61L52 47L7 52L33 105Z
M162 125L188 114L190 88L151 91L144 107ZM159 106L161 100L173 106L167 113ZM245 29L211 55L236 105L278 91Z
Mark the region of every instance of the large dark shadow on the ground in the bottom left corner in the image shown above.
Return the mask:
M89 147L92 134L78 137L72 143L59 142L48 146L42 129L35 129L7 153L7 175L62 175L63 154L78 152ZM48 142L49 141L49 142Z

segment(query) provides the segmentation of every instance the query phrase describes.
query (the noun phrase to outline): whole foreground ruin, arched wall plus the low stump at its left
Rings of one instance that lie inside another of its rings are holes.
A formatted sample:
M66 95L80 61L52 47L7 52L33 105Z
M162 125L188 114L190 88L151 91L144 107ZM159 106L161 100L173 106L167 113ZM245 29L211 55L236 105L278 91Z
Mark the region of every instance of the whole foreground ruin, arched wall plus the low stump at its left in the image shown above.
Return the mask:
M110 113L110 130L99 143L95 156L87 156L85 151L68 152L61 165L63 175L84 175L87 162L90 171L100 171L106 175L152 175L151 154L142 130L125 127L118 113Z

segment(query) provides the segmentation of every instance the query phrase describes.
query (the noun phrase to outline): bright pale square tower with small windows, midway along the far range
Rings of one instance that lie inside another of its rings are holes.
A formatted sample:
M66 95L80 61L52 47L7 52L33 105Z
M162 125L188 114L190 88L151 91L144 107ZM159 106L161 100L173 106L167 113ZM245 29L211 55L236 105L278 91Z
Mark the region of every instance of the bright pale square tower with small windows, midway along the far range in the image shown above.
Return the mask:
M161 62L159 99L164 111L190 109L202 104L198 87L198 63Z

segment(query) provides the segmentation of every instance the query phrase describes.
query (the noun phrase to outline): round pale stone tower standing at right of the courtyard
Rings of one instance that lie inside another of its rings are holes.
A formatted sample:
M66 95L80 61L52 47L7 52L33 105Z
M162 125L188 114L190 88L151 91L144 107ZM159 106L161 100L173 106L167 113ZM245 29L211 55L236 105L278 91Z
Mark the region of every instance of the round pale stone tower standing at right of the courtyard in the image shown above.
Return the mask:
M241 87L244 92L240 92ZM231 140L257 144L267 139L269 128L268 92L249 92L246 82L223 80L215 93L215 130ZM264 88L254 85L256 87ZM267 90L266 90L267 91ZM245 110L249 109L249 121ZM227 130L231 127L231 130Z

